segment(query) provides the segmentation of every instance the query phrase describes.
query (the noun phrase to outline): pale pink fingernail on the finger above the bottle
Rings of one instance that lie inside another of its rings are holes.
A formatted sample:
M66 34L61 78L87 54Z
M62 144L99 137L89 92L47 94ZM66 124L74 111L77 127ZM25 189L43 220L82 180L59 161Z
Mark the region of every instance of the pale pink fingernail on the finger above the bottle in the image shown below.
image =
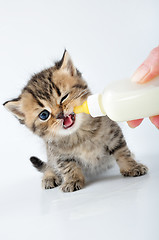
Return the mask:
M144 81L144 78L147 76L147 74L149 74L149 72L150 72L150 68L145 64L143 64L133 74L131 81L142 83Z

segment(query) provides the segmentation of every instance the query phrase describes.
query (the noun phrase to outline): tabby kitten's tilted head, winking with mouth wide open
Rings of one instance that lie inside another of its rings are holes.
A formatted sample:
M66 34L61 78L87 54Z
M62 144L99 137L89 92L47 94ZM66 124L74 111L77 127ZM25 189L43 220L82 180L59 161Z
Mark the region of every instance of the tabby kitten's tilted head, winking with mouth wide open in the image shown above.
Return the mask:
M4 103L21 123L47 139L69 135L82 123L73 109L90 94L86 82L65 50L55 66L34 75L20 96Z

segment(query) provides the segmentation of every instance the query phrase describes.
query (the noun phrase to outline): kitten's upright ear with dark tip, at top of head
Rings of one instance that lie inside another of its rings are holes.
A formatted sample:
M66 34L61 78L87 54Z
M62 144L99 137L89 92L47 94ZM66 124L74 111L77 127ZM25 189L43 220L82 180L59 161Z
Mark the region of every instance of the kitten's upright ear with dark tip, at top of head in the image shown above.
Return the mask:
M56 63L56 67L57 69L67 71L71 76L77 75L77 70L67 50L64 51L62 59Z

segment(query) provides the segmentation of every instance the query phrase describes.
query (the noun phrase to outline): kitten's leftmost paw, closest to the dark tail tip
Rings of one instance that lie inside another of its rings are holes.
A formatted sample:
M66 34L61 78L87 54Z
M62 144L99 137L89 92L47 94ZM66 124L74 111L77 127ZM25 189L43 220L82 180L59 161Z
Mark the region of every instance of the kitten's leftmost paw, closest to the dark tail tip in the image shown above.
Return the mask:
M51 189L61 185L61 182L60 176L55 174L52 169L47 169L43 175L42 188Z

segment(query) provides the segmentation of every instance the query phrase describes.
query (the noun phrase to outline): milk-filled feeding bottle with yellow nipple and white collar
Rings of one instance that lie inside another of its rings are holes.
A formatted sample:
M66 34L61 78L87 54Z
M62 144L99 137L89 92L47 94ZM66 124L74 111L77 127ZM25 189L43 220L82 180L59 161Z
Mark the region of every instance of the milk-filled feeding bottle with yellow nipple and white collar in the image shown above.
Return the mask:
M114 82L103 93L89 96L74 112L107 115L118 122L159 115L159 76L144 84L130 79Z

